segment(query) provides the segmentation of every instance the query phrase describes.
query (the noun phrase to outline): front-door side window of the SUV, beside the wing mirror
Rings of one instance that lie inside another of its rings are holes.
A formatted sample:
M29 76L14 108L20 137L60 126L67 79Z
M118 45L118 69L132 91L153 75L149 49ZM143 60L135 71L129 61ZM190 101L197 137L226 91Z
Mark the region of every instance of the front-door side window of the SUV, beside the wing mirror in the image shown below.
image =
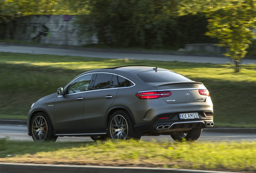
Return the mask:
M87 74L74 80L70 85L68 85L67 94L88 91L88 86L90 84L92 76L93 74Z

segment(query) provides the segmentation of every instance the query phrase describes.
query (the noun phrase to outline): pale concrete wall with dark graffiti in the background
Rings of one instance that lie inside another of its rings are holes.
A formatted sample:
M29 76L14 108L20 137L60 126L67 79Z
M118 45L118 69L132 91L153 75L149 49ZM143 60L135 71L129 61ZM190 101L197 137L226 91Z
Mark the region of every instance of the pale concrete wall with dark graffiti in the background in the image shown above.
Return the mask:
M88 39L78 38L72 15L32 15L17 18L8 25L5 39L44 44L80 46ZM97 38L92 38L97 43Z

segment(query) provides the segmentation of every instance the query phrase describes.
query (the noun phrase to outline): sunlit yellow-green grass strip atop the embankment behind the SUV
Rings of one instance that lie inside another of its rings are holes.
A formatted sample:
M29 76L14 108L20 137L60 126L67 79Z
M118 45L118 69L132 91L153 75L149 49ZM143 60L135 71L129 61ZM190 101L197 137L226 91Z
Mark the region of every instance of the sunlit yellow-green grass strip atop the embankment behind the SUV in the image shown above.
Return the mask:
M33 66L38 68L63 68L72 70L92 70L97 68L106 68L109 66L145 64L175 70L176 72L180 72L181 74L189 76L190 78L203 77L217 80L256 82L255 64L242 65L242 70L239 73L234 73L233 66L227 64L203 64L161 61L145 62L145 60L128 60L128 62L125 62L125 60L122 59L87 58L79 56L58 55L32 55L15 53L10 54L4 52L0 54L0 62L23 66Z

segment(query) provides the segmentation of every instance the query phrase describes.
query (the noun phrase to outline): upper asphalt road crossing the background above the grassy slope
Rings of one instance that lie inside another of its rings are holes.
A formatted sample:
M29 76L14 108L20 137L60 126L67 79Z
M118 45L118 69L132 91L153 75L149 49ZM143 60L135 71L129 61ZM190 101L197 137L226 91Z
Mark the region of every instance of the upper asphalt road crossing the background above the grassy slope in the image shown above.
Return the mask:
M119 53L96 52L96 51L86 51L86 50L70 50L70 49L9 46L9 45L0 45L0 52L85 56L85 57L92 57L92 58L179 61L179 62L196 62L196 63L213 63L213 64L227 64L228 62L232 62L230 58L220 58L220 57L181 56L181 55L165 55L165 54L139 54L139 53L121 53L121 52ZM250 64L250 63L256 64L256 59L242 60L242 64Z

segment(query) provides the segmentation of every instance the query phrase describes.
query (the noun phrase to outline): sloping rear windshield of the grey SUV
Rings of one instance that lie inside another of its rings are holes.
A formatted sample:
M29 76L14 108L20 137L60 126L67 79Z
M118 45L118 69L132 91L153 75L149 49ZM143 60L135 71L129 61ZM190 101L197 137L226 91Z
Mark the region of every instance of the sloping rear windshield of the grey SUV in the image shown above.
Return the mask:
M137 74L144 82L188 82L192 81L181 74L171 71L158 70L140 72Z

